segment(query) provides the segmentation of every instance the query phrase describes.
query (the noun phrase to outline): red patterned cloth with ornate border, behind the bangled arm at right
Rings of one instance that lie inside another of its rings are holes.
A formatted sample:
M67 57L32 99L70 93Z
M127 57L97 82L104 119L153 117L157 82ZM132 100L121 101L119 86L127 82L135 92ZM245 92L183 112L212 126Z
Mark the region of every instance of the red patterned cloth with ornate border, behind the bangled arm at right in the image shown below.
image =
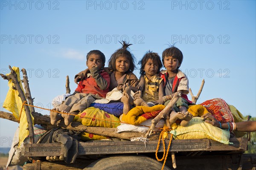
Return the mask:
M230 108L223 99L207 100L200 105L203 105L221 123L234 122Z

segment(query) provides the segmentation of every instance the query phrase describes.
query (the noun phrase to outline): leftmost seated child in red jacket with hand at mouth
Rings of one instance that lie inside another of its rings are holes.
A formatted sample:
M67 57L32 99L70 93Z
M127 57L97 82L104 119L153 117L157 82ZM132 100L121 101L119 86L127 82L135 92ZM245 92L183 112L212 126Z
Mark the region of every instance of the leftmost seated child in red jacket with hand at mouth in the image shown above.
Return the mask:
M74 115L79 114L96 99L103 99L109 92L110 77L102 68L105 65L105 55L99 50L92 50L87 54L87 69L84 79L79 82L75 92L69 96L57 109L64 114L59 115L50 112L51 124L54 125L58 120L64 118L65 125L69 125Z

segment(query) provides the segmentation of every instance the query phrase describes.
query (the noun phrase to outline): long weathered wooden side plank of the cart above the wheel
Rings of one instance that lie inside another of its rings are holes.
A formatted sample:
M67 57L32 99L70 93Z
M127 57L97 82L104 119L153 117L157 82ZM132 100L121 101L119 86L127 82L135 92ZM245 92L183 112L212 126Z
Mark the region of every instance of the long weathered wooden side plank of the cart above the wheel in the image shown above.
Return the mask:
M173 140L169 152L189 151L236 151L243 153L247 146L247 139L233 139L233 144L222 144L209 139ZM121 154L121 153L155 153L157 140L141 141L102 140L79 142L79 155ZM169 140L165 140L166 149ZM158 152L163 152L160 143ZM64 154L61 144L26 144L24 156L61 156Z

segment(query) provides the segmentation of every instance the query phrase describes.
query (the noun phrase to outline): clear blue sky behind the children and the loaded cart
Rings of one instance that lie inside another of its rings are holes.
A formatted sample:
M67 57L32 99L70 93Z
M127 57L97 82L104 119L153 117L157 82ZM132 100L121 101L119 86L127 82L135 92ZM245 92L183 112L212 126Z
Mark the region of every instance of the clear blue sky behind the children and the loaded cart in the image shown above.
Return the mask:
M161 56L176 42L194 94L205 79L198 103L219 97L256 116L254 0L0 0L0 36L0 72L9 73L8 65L26 68L40 107L52 108L51 100L66 92L67 75L75 90L73 77L86 68L90 50L99 49L108 61L118 41L128 40L137 61L148 50ZM1 111L7 91L1 78ZM0 147L11 146L17 126L0 119Z

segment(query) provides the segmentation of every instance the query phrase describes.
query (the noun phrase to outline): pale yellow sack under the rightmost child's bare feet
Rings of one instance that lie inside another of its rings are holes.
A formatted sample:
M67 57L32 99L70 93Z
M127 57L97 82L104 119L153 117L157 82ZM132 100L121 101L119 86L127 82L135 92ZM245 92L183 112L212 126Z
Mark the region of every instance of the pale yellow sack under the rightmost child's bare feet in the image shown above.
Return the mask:
M202 117L193 117L186 127L178 126L171 132L175 139L212 139L229 144L230 132L212 126L203 121Z

